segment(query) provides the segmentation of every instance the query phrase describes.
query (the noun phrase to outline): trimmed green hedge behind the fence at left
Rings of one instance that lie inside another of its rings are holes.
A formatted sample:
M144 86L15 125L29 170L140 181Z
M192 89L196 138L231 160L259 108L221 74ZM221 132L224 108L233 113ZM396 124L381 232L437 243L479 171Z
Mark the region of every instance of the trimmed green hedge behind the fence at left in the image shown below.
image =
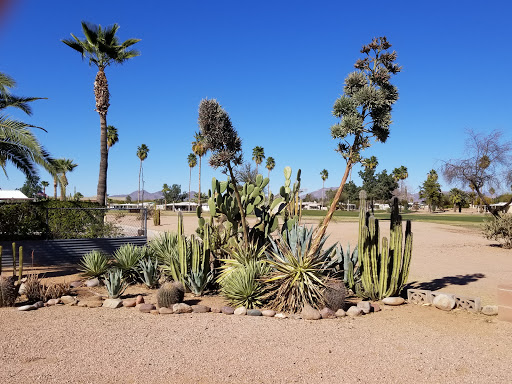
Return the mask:
M69 209L80 208L80 209ZM98 203L46 200L1 204L0 240L115 237Z

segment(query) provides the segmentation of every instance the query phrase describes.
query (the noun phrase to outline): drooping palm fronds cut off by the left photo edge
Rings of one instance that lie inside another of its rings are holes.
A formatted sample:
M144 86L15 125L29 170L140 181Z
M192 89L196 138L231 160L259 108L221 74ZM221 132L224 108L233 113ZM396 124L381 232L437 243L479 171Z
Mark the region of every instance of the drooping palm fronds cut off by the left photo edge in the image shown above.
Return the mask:
M37 164L53 175L50 154L29 129L39 127L2 114L5 108L13 107L31 115L32 110L28 103L40 99L11 95L10 89L15 86L16 82L10 76L0 72L0 168L7 176L6 165L11 163L27 178L33 178L37 175Z

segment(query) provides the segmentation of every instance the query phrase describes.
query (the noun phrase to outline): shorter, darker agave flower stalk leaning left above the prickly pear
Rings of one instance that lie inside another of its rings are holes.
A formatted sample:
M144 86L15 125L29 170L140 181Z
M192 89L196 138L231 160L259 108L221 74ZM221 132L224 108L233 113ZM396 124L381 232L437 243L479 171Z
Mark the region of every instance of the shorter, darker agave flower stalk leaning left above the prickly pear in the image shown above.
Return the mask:
M238 184L233 173L233 166L242 164L242 140L231 123L228 113L215 99L203 99L199 104L199 128L204 136L206 148L211 152L210 165L213 168L224 167L229 173L235 190L235 197L240 208L244 244L249 242L245 211L238 192Z

